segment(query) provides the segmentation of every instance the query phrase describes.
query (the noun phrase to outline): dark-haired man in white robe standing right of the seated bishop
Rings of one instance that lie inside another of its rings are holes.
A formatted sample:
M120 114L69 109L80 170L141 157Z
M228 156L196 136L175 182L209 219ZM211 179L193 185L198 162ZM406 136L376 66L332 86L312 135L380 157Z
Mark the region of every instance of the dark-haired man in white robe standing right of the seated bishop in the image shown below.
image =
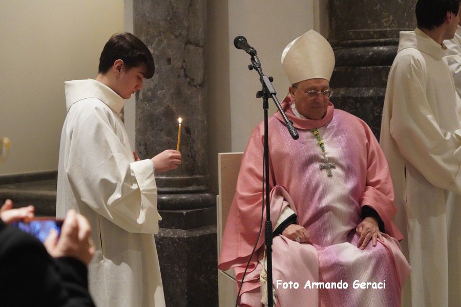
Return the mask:
M447 3L418 1L418 28L400 33L381 125L412 267L404 303L411 298L418 307L461 301L461 107L442 43L459 23L459 1L445 8L441 24L425 13L440 14Z

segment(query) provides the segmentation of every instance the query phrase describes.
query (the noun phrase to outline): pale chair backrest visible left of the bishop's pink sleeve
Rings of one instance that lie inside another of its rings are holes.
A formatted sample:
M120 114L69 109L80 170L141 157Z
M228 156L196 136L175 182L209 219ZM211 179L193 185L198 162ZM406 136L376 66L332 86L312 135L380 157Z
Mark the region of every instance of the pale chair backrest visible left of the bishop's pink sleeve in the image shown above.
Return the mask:
M217 196L217 231L218 231L218 257L221 250L222 232L226 227L227 215L234 199L237 177L239 176L240 162L243 152L218 153L218 183L219 195Z

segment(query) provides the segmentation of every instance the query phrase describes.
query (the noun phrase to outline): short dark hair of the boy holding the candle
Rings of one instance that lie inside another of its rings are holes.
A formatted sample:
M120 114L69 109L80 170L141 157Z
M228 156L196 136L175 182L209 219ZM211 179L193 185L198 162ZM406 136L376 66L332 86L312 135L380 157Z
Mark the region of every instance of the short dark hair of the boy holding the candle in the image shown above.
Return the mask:
M98 73L105 74L109 71L116 60L122 60L125 68L130 69L145 65L145 78L150 79L154 75L154 58L149 48L131 33L117 33L111 36L102 49L99 57Z

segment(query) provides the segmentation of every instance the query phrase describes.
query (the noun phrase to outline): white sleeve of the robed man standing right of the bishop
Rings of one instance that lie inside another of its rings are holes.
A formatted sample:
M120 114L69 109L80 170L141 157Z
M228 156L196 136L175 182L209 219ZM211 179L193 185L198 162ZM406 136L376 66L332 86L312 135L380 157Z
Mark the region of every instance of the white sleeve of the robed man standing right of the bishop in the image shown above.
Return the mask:
M461 129L439 127L426 97L425 74L423 64L410 56L395 65L390 134L427 181L461 194Z

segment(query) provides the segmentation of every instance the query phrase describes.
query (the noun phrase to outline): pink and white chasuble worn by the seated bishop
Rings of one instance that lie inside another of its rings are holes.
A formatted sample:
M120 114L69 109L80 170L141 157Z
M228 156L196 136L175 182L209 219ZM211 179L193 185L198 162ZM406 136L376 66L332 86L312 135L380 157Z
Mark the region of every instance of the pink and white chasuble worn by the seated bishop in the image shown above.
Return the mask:
M282 107L298 129L298 140L290 137L280 114L269 118L271 220L275 226L283 208L289 206L297 213L298 224L307 229L312 245L299 244L282 235L274 238L277 304L400 306L401 289L410 266L400 250L398 240L402 234L392 222L396 212L392 181L378 141L365 122L334 109L331 103L326 115L315 121L296 117L291 102L291 96L287 96ZM320 169L322 151L310 130L313 128L319 128L326 156L336 164L331 169L332 177ZM261 123L245 149L223 235L219 268L234 268L237 290L260 225L263 138ZM360 250L355 228L365 205L378 212L386 234L384 242L379 241L376 247L370 242ZM261 235L245 276L241 306L262 305L259 260L263 240ZM277 286L277 280L298 282L299 288L283 289ZM368 289L366 282L370 282ZM372 289L373 282L384 289ZM322 284L336 289L321 289Z

